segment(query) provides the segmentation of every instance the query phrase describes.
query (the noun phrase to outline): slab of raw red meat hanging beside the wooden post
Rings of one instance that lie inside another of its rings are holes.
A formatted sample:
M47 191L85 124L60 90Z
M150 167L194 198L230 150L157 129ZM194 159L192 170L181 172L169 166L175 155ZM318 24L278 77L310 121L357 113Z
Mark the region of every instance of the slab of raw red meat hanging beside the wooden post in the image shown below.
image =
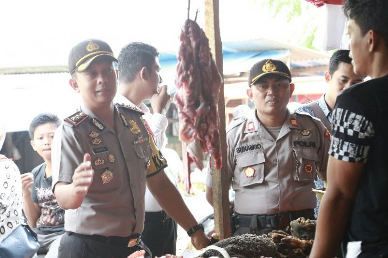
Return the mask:
M215 167L220 169L217 103L222 77L212 59L209 39L195 21L185 21L179 39L174 96L179 111L179 140L188 143L189 160L199 169L203 168L203 152L210 152Z

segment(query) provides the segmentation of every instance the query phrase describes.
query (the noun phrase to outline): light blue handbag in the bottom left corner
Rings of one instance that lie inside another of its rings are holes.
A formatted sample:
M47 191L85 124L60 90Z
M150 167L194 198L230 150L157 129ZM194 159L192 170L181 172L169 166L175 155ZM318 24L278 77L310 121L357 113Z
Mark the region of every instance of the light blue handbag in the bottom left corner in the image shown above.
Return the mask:
M19 225L0 243L0 257L32 258L38 249L38 235L28 225Z

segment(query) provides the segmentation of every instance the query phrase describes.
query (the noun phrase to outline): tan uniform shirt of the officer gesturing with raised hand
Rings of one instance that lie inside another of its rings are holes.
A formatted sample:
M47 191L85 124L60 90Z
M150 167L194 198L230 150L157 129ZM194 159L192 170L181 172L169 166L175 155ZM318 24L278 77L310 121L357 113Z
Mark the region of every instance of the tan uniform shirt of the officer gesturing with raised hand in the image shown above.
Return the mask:
M86 152L95 172L81 206L65 211L67 231L120 237L142 233L146 177L167 164L143 123L141 111L134 109L115 106L116 131L84 106L82 113L58 127L52 148L53 189L57 182L72 182Z

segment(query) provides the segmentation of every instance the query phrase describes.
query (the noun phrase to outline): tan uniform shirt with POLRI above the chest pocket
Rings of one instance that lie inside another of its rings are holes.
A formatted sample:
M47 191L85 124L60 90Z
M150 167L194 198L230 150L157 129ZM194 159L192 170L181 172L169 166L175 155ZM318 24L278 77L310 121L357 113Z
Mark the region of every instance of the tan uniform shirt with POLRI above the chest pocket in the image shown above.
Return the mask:
M330 145L320 121L288 113L274 139L256 116L242 117L231 122L226 138L236 212L270 215L315 208L311 189L317 173L325 180Z

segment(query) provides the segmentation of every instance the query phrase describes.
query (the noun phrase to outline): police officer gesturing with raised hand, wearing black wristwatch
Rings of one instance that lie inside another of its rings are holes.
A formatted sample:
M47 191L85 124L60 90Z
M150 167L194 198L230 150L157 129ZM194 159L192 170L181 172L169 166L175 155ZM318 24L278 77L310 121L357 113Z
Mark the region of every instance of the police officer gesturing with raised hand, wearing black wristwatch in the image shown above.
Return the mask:
M59 258L127 258L146 250L146 183L163 209L188 230L195 247L209 238L177 189L160 173L167 166L146 127L143 112L113 105L117 61L103 41L90 39L69 55L70 86L81 94L80 110L65 119L53 141L53 191L65 211ZM200 230L202 229L202 230Z

